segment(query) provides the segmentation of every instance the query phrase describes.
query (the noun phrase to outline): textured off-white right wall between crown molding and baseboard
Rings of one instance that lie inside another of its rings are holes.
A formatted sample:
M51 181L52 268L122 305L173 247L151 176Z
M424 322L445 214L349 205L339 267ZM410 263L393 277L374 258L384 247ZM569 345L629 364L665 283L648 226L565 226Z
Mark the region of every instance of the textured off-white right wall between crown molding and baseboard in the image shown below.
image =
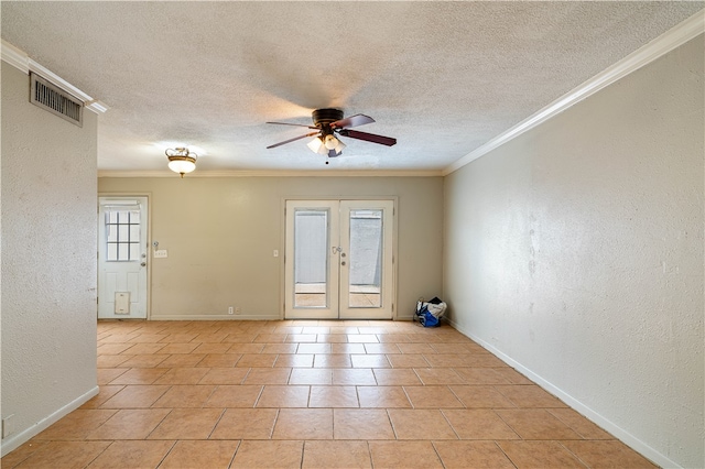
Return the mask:
M660 465L704 467L703 36L445 181L457 327Z

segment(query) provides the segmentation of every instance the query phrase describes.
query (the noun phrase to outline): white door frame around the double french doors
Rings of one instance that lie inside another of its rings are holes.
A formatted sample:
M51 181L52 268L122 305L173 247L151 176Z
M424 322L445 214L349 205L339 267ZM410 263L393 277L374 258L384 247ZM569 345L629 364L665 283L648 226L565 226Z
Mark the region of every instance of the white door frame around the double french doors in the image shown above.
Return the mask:
M280 283L280 287L279 287L279 292L280 292L280 302L279 302L279 317L280 319L285 319L285 305L286 305L286 262L285 262L285 255L286 253L286 201L292 200L292 201L300 201L300 200L391 200L393 203L393 210L392 210L392 284L390 285L391 288L391 301L392 301L392 317L391 320L397 320L397 318L399 317L399 298L397 297L397 292L399 292L398 288L398 282L399 282L399 275L398 275L398 265L399 265L399 253L398 253L398 246L399 246L399 196L390 196L390 195L384 195L384 196L369 196L369 195L349 195L349 196L315 196L315 195L310 195L310 196L284 196L281 199L280 203L280 243L279 243L279 252L283 253L283 255L280 255L280 272L279 272L279 283ZM292 319L292 320L306 320L306 319ZM313 319L313 320L360 320L360 319ZM361 319L361 320L368 320L368 319ZM376 319L369 319L369 320L376 320Z

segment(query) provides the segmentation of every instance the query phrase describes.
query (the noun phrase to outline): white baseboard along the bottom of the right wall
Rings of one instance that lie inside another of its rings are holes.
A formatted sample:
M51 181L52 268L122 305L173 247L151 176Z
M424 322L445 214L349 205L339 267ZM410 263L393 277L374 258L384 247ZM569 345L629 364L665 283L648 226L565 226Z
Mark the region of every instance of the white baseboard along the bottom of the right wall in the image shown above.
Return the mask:
M611 422L609 418L607 418L607 417L600 415L599 413L595 412L593 408L590 408L587 405L583 404L581 401L576 400L575 397L573 397L572 395L570 395L568 393L566 393L562 389L557 388L556 385L554 385L550 381L543 379L542 377L540 377L539 374L534 373L533 371L531 371L530 369L528 369L523 364L519 363L517 360L514 360L511 357L505 355L501 350L497 349L491 343L480 339L479 337L477 337L474 334L471 334L469 330L465 330L464 328L459 327L454 320L448 320L448 323L457 331L459 331L464 336L467 336L470 339L473 339L475 342L480 345L482 348L485 348L486 350L491 352L494 356L496 356L497 358L502 360L505 363L509 364L510 367L512 367L513 369L519 371L521 374L523 374L524 377L529 378L531 381L533 381L534 383L539 384L544 390L549 391L551 394L553 394L556 397L558 397L566 405L568 405L571 408L573 408L577 413L582 414L583 416L587 417L590 422L593 422L594 424L598 425L604 430L610 433L615 438L619 439L625 445L629 446L631 449L633 449L634 451L639 452L644 458L651 460L653 463L658 465L659 467L663 467L663 468L682 468L682 466L680 466L677 462L672 461L666 456L662 455L661 452L659 452L658 450L653 449L651 446L649 446L644 441L640 440L639 438L637 438L636 436L633 436L632 434L630 434L626 429L621 428L620 426L618 426L617 424Z

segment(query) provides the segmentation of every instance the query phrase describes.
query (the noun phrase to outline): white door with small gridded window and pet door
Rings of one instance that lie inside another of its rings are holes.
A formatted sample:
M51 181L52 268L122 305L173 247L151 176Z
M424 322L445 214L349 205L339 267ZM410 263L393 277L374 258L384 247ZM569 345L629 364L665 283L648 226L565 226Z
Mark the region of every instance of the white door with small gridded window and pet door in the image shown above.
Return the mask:
M98 199L98 318L147 318L148 199Z

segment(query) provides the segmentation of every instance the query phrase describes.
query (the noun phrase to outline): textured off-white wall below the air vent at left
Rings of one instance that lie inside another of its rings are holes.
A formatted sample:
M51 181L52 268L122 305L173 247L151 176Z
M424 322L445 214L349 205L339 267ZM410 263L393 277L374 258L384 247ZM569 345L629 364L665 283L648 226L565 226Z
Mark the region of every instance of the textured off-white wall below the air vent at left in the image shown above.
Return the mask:
M98 392L97 116L78 128L29 102L2 63L2 455Z

